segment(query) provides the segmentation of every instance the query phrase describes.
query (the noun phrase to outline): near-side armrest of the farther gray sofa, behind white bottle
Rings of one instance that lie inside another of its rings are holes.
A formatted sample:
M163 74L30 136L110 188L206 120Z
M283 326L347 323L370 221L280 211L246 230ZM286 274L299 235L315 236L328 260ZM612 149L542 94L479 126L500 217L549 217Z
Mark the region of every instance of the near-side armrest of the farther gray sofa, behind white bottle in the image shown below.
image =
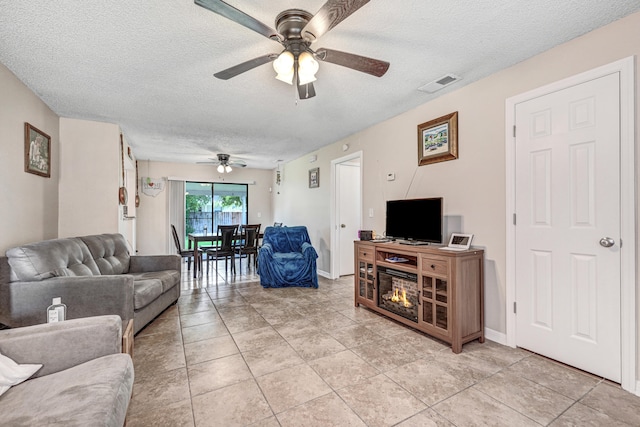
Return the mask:
M67 319L115 314L133 319L133 276L53 277L39 282L3 284L0 322L21 327L46 323L55 297L67 306Z

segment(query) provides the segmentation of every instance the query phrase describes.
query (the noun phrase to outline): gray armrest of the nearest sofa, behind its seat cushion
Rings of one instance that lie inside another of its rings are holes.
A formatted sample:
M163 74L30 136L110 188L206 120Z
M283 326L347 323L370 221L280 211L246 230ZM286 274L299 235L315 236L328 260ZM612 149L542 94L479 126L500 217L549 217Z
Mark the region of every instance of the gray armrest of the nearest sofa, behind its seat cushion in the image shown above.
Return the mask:
M122 351L119 316L86 317L0 331L0 353L17 363L42 363L35 377Z

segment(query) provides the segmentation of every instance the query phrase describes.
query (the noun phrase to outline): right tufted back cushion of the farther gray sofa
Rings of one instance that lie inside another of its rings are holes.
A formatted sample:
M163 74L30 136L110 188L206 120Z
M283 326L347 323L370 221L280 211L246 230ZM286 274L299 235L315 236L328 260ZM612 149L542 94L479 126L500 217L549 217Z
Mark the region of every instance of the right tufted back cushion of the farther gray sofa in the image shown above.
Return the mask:
M79 237L89 248L100 274L124 274L129 271L129 249L122 234Z

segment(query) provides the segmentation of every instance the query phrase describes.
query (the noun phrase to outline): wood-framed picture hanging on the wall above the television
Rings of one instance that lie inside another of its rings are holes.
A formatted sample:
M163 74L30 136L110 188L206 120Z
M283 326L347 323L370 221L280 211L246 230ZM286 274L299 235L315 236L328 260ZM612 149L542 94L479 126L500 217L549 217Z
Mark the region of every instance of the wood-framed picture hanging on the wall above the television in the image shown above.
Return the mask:
M418 125L418 166L457 158L457 111Z

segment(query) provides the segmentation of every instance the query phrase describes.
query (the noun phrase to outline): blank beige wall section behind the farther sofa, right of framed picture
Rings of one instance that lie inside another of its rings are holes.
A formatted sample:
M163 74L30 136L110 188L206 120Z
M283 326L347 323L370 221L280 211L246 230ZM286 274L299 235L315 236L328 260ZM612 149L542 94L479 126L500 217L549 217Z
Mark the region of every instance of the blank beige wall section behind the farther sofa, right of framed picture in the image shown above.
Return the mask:
M59 237L119 232L120 129L60 119Z

